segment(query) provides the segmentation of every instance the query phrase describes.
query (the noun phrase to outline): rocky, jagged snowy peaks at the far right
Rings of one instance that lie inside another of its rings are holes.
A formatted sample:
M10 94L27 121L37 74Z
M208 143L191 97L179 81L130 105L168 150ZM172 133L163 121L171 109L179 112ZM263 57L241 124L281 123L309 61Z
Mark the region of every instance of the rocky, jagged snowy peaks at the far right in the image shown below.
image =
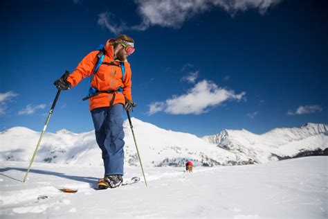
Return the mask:
M295 157L306 151L322 152L328 148L328 125L307 123L300 128L275 128L264 134L224 130L203 139L240 157L265 163Z

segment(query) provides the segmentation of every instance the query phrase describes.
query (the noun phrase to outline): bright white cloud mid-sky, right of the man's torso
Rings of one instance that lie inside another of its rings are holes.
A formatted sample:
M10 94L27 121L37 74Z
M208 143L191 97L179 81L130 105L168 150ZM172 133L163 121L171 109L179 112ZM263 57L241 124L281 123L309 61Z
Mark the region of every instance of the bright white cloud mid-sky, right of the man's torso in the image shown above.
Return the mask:
M214 82L202 80L194 85L188 94L151 103L147 114L152 115L161 111L168 114L202 114L208 112L210 107L220 105L226 100L242 100L245 94L245 92L235 94L233 90L227 90L218 87Z

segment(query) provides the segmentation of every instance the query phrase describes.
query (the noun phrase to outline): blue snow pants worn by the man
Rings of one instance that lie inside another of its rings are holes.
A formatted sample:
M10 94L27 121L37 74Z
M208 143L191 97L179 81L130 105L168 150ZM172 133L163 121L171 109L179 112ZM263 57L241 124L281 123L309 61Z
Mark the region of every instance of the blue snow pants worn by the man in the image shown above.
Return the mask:
M122 104L99 107L91 111L95 139L102 151L104 175L123 175L124 131Z

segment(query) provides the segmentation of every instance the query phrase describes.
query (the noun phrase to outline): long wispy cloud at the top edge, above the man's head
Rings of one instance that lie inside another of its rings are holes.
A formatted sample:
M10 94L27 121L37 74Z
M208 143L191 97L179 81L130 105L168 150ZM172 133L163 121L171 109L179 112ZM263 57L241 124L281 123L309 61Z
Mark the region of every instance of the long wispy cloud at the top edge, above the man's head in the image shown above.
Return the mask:
M266 10L282 0L135 0L141 23L127 26L124 22L113 24L111 17L102 13L98 24L106 26L112 33L125 30L146 30L150 26L180 28L183 23L195 15L212 8L222 8L232 17L238 11L258 10L264 15Z

